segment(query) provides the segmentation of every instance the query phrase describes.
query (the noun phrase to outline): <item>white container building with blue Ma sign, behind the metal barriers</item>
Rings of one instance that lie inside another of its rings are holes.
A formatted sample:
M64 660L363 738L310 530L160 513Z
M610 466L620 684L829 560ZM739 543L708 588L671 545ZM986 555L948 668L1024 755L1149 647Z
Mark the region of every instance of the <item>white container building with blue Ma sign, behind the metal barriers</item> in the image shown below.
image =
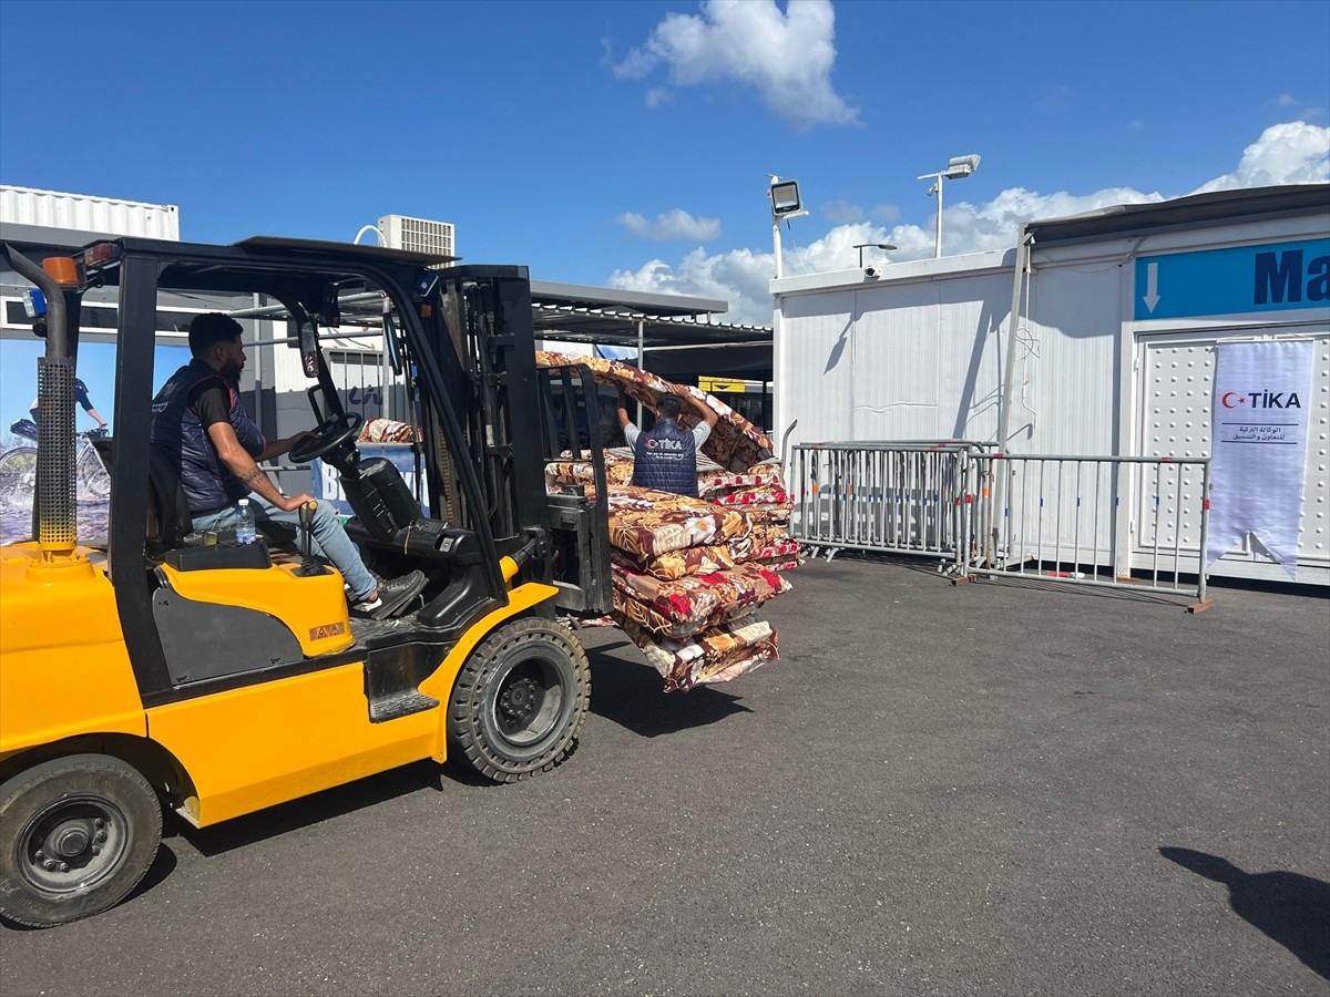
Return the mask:
M1111 207L1028 222L1005 253L786 277L770 286L775 429L794 425L790 445L1208 457L1216 344L1310 339L1297 581L1330 584L1327 283L1330 185ZM1212 574L1287 580L1253 544Z

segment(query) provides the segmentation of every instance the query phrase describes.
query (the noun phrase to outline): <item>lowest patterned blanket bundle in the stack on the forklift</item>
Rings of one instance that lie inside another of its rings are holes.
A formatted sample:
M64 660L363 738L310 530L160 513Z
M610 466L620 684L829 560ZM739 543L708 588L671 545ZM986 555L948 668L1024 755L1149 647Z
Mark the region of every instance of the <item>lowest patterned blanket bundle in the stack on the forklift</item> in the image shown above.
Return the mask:
M666 693L729 682L778 654L775 631L765 619L724 623L688 641L662 638L630 619L624 631L665 679Z

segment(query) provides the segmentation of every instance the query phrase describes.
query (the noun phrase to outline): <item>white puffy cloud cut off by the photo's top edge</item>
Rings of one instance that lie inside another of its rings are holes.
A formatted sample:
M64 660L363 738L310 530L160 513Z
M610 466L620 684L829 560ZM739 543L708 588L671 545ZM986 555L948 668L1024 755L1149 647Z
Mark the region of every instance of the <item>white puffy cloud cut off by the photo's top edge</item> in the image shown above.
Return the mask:
M849 125L859 112L831 86L834 37L831 0L789 0L785 13L775 0L705 0L700 15L666 15L613 72L641 78L665 65L677 86L737 80L799 132Z

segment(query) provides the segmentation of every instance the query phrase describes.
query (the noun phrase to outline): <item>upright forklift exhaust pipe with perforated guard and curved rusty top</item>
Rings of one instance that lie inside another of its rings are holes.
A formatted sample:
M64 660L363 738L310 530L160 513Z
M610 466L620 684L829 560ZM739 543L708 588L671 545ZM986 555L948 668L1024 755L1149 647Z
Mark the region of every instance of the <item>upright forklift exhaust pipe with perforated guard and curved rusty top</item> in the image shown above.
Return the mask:
M9 266L47 298L47 355L37 358L37 542L45 561L73 554L78 540L74 495L74 362L69 356L65 295L45 270L11 246Z

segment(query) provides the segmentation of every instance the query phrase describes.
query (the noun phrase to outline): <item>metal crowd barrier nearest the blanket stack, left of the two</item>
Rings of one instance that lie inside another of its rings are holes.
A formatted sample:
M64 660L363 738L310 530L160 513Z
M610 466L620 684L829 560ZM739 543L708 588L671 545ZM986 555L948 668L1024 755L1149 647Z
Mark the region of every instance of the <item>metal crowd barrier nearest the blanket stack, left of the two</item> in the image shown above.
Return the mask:
M791 534L827 550L956 558L968 440L801 444L790 451Z

